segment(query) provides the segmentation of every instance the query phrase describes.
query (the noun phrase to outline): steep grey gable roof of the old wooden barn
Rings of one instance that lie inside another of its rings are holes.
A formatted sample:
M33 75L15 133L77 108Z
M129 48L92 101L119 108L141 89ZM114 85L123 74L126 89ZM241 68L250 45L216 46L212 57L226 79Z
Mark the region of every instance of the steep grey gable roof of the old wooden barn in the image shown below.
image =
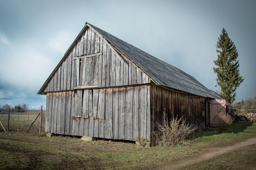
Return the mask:
M182 70L165 63L154 56L130 45L129 43L120 40L119 38L112 36L111 34L91 25L89 23L85 23L85 27L81 30L79 35L76 37L72 45L69 47L61 61L58 63L56 68L53 70L52 74L47 78L41 89L38 91L38 94L41 94L52 78L58 67L61 65L63 60L65 60L66 56L69 54L71 49L74 47L76 42L79 40L85 29L90 27L97 31L103 38L105 38L108 43L117 50L120 54L128 58L132 63L134 63L137 67L139 67L143 72L145 72L157 85L161 85L164 87L169 87L172 89L177 89L183 92L188 92L190 94L195 94L198 96L204 96L209 98L221 98L216 93L207 89L204 85L202 85L199 81L197 81L193 76L186 74Z

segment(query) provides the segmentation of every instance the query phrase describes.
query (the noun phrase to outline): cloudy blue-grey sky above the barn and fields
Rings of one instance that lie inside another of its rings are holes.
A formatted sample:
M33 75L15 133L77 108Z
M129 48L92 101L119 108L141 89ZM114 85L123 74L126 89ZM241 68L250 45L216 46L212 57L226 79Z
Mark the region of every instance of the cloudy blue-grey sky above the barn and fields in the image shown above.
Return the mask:
M213 73L225 27L244 82L236 101L256 93L256 1L0 0L0 107L46 105L37 92L85 22L220 90Z

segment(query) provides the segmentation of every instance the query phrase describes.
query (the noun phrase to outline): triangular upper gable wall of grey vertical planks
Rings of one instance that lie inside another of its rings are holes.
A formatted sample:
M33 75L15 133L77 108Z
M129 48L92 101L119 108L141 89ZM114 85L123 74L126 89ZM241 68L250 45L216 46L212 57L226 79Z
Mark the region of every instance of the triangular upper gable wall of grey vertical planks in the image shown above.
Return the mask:
M94 53L102 55L75 59ZM88 27L44 90L59 92L76 86L112 87L143 83L150 83L148 76L117 54L106 40Z

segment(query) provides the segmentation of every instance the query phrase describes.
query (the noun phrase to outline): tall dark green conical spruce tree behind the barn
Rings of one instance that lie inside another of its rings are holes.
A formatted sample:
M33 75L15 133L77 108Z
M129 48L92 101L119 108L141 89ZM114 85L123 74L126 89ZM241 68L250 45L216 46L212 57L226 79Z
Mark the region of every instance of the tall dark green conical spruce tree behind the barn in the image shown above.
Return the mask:
M224 27L216 47L218 58L213 62L217 67L213 67L213 72L217 74L216 81L221 88L220 96L229 103L233 103L236 97L236 88L239 87L244 79L239 74L236 46L229 38Z

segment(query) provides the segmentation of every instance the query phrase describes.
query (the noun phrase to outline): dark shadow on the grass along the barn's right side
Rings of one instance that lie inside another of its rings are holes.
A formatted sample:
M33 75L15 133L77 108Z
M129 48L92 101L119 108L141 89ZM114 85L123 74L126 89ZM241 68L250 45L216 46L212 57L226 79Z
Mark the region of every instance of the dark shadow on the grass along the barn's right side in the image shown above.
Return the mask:
M231 125L229 125L227 127L227 130L222 132L222 134L224 133L238 134L239 132L245 132L245 130L249 126L256 126L256 125L253 125L253 122L234 122ZM195 133L195 138L199 138L203 136L212 136L216 134L221 134L220 132L218 132L217 128L213 128L212 130L202 130Z

